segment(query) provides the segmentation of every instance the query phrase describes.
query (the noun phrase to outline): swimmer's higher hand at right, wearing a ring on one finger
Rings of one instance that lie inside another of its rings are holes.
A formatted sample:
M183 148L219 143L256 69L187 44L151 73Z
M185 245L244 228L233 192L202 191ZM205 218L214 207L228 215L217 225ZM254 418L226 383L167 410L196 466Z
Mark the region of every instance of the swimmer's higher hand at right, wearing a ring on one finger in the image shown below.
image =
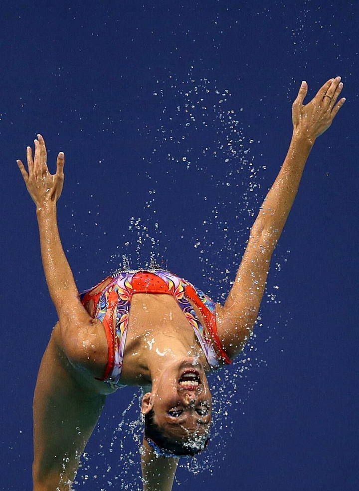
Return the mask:
M303 105L308 92L308 84L303 81L292 106L294 134L306 136L311 143L314 143L317 136L329 128L344 104L346 100L344 97L336 104L342 88L341 77L331 78L308 104Z

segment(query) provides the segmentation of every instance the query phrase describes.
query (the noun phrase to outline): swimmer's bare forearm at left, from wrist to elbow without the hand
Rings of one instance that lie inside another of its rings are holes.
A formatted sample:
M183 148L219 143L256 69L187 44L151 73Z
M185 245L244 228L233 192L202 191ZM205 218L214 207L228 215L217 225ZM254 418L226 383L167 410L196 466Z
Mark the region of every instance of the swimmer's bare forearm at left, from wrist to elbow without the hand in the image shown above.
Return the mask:
M69 263L62 248L57 227L56 203L51 201L36 209L40 234L42 265L51 299L60 318L69 296L79 293Z

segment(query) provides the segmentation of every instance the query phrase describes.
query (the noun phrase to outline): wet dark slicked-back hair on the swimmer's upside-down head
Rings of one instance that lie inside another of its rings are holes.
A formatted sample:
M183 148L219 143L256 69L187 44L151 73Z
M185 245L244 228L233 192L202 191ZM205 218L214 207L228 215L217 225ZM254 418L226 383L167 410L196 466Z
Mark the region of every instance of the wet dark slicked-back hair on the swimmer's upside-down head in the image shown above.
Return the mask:
M192 448L188 445L188 442L179 442L172 440L164 434L163 429L155 423L155 411L151 409L145 415L145 439L150 438L156 445L167 452L172 452L174 457L193 457L199 452L202 452L208 444L209 437L205 440L203 446L198 445Z

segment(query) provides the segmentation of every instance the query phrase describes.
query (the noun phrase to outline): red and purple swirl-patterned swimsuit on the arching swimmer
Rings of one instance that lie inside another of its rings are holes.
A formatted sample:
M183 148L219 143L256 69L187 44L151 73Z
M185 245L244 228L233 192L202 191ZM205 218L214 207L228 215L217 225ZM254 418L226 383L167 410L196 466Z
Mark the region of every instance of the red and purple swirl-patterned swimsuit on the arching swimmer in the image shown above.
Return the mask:
M104 288L105 284L110 280ZM107 277L95 287L85 290L80 298L93 318L99 319L106 332L108 363L102 379L113 389L120 384L127 325L132 295L135 293L161 293L172 295L192 326L208 364L218 368L220 362L232 363L223 350L215 321L215 303L191 283L161 269L151 271L124 271ZM202 326L188 299L199 309L205 321ZM92 305L91 305L92 304Z

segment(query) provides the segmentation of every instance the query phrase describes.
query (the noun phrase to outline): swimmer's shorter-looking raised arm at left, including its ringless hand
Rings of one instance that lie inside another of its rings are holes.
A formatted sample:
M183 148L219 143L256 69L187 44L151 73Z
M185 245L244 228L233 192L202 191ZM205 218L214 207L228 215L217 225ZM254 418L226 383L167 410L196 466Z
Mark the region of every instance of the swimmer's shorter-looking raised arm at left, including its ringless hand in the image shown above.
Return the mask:
M36 205L41 257L47 286L64 329L71 324L91 324L93 319L80 302L57 228L56 201L63 187L64 154L58 154L56 174L50 174L46 163L45 141L41 135L37 136L38 140L34 140L34 159L31 147L27 147L26 150L28 173L21 160L17 160L17 164Z

